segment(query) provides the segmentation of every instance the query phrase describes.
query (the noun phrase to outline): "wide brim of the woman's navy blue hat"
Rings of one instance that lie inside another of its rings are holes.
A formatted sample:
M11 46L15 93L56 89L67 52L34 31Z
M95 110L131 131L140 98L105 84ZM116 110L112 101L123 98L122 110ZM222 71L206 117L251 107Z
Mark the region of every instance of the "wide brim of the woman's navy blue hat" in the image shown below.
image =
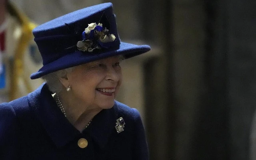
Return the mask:
M58 60L55 60L53 62L50 62L48 64L45 64L38 72L35 72L31 74L31 79L40 78L46 74L62 70L65 68L70 68L73 66L78 66L81 64L85 64L88 62L93 62L96 60L112 57L112 56L118 56L118 55L124 55L124 58L131 58L134 56L137 56L139 54L148 52L150 50L150 46L148 45L136 45L136 44L130 44L125 42L120 42L119 49L109 51L109 52L103 52L100 54L87 54L85 52L74 52L72 54L67 54Z

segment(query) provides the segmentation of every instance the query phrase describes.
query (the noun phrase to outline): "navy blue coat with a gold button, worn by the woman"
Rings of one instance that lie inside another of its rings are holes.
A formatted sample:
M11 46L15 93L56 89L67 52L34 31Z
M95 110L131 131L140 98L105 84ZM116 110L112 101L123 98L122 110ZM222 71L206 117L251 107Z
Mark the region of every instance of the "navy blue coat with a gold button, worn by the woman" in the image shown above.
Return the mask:
M124 131L116 132L123 117ZM86 148L78 140L88 141ZM115 102L80 133L43 84L28 96L0 105L0 160L148 160L140 114Z

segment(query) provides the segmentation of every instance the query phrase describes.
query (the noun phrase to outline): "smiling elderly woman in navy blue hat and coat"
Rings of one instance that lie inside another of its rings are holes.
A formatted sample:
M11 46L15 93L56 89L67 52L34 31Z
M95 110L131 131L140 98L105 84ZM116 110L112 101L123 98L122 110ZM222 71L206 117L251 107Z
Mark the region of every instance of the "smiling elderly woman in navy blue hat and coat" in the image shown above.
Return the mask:
M120 42L112 4L66 14L33 30L46 83L0 105L1 160L147 160L136 109L114 100L120 61L150 50Z

